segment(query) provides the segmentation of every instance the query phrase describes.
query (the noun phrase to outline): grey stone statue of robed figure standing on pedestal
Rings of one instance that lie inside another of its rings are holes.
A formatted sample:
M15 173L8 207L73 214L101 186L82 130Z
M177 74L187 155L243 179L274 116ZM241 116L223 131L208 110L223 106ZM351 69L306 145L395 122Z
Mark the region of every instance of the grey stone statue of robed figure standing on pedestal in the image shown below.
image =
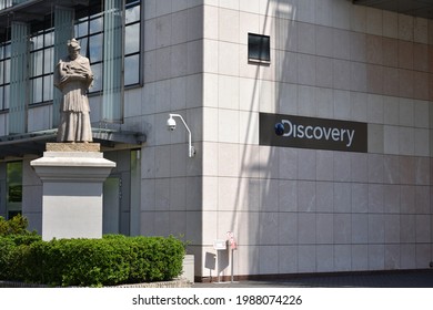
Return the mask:
M58 142L92 142L87 91L92 85L93 73L89 59L80 55L80 49L75 39L68 41L69 55L54 70L54 86L63 94Z

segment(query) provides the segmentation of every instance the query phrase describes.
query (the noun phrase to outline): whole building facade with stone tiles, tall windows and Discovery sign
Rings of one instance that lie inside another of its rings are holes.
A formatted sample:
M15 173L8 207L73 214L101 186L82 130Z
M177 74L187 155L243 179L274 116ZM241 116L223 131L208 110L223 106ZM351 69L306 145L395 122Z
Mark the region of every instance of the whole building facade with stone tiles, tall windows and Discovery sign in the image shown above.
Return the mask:
M29 163L73 37L117 163L105 234L182 236L198 279L430 268L433 6L367 2L0 1L0 216L42 227Z

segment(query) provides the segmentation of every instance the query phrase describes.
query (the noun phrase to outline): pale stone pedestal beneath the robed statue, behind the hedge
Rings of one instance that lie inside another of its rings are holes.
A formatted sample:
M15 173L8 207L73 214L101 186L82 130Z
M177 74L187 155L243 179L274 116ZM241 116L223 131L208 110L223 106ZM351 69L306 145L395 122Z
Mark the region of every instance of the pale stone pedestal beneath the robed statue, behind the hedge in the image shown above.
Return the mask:
M97 143L48 143L30 165L42 180L42 239L101 238L102 185L115 163Z

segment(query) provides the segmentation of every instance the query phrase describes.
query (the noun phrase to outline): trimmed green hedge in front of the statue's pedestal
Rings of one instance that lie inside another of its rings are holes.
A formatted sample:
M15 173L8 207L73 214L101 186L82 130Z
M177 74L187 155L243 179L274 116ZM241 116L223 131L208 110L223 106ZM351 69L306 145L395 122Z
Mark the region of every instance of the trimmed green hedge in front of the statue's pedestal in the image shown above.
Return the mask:
M54 239L0 237L0 280L101 287L171 280L182 272L184 245L174 237Z

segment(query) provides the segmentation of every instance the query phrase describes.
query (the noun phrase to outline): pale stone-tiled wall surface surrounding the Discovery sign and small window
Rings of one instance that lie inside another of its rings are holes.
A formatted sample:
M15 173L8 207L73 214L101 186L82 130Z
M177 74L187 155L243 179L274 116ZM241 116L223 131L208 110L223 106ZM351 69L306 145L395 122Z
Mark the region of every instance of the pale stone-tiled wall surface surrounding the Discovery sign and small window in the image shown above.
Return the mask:
M429 268L431 21L339 0L145 12L143 234L185 232L203 277L228 230L238 275ZM271 37L269 66L248 63L248 32ZM366 122L369 153L259 146L259 112Z

